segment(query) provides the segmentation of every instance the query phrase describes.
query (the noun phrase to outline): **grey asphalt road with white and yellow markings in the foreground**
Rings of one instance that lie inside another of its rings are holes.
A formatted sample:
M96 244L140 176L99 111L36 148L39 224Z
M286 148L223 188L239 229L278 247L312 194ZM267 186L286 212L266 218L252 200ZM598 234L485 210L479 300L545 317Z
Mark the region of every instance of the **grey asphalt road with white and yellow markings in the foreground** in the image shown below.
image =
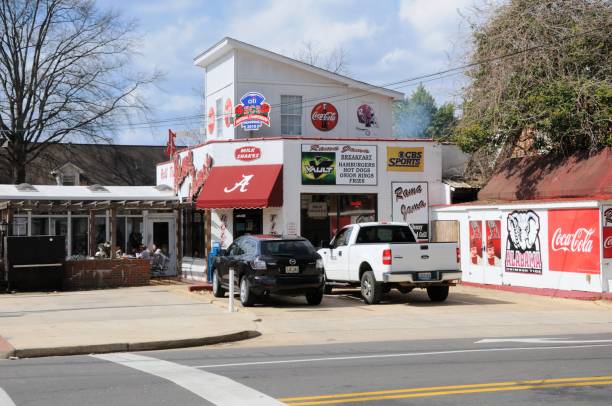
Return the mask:
M7 405L610 405L612 334L0 361Z

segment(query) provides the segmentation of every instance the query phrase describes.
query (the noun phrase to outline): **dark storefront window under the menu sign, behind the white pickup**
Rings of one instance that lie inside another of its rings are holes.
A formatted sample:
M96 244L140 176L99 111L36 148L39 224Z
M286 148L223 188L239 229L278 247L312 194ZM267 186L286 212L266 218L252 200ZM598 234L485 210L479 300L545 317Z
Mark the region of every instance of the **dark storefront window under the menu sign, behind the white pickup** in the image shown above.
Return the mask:
M316 247L330 241L342 227L376 221L375 194L302 194L301 234Z

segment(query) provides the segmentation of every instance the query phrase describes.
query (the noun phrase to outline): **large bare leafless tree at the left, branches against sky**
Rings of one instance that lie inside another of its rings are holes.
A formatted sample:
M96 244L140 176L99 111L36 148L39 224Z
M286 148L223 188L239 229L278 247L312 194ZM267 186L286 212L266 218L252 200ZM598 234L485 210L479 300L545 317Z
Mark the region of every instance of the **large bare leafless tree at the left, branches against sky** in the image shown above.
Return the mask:
M134 29L92 0L0 0L0 134L15 183L48 145L108 141L144 108L137 92L158 75L130 72Z

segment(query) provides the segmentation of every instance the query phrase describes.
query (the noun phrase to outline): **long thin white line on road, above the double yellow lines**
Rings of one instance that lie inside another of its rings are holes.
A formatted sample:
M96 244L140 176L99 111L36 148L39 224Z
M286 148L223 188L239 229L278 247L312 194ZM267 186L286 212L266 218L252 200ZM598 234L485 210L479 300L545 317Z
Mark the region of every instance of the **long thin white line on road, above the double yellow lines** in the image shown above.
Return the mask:
M251 365L295 364L299 362L326 362L326 361L347 361L347 360L350 361L350 360L358 360L358 359L418 357L418 356L423 356L423 355L467 354L467 353L475 353L475 352L559 350L559 349L564 349L564 348L593 348L593 347L612 347L612 344L564 345L564 346L556 346L556 347L481 348L481 349L471 349L471 350L406 352L406 353L399 353L399 354L351 355L351 356L346 356L346 357L302 358L302 359L286 359L286 360L278 360L278 361L237 362L233 364L198 365L193 368L208 369L208 368L225 368L225 367L243 367L243 366L251 366Z

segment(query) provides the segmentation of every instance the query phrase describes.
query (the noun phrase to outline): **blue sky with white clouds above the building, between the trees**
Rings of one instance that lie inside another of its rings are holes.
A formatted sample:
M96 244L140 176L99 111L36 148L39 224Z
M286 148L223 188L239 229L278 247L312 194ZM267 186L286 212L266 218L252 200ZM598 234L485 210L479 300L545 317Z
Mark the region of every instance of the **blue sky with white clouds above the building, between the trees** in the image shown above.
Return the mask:
M385 84L462 64L469 46L464 17L476 0L99 0L139 22L135 67L158 68L165 79L143 91L147 119L202 112L203 71L193 58L225 36L290 57L305 41L348 52L349 76ZM424 83L438 103L458 101L460 75ZM415 85L397 89L410 94ZM145 126L146 127L146 126ZM173 119L151 128L125 127L120 144L163 144L167 129L189 131L197 120ZM188 139L181 143L189 142Z

